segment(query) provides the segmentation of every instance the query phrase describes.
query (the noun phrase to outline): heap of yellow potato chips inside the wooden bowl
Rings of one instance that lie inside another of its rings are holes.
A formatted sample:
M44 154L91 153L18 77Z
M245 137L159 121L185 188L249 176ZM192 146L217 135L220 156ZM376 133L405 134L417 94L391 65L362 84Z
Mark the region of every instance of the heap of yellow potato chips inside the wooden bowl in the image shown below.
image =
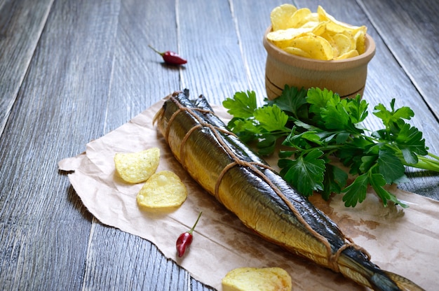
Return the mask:
M335 20L321 6L312 13L291 4L274 8L267 39L292 55L311 59L346 59L365 52L365 26Z

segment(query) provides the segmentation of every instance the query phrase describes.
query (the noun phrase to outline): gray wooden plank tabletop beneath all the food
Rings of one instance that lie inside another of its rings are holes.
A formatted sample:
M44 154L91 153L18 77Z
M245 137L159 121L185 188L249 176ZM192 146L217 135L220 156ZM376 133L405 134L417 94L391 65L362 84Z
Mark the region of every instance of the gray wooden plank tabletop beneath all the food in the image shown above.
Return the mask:
M367 25L377 53L364 98L410 106L439 153L438 1L294 2ZM149 241L100 224L57 163L174 90L262 100L262 34L281 3L0 0L1 290L210 290ZM148 44L189 62L166 66ZM407 176L400 188L439 199L437 173Z

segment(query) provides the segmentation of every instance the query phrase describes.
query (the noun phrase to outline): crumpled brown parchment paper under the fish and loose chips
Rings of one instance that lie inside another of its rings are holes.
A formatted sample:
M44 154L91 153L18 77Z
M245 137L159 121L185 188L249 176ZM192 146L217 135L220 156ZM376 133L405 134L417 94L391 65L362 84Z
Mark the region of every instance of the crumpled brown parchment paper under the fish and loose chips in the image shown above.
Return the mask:
M154 243L166 257L189 271L196 280L221 290L221 280L237 267L282 267L292 277L293 290L365 290L340 274L291 255L256 236L203 191L173 157L152 118L163 101L125 125L86 145L86 151L63 159L59 169L72 171L69 180L83 204L104 225L121 229ZM214 106L223 120L224 108ZM136 203L142 184L124 183L115 173L114 154L151 147L161 150L157 171L174 171L187 186L188 198L173 211L144 211ZM276 164L272 163L275 167ZM346 208L341 197L330 202L311 201L335 220L342 231L372 255L381 269L400 274L426 290L435 290L439 274L439 203L417 194L393 192L410 208L384 208L377 198ZM177 257L175 241L203 211L194 241L184 257Z

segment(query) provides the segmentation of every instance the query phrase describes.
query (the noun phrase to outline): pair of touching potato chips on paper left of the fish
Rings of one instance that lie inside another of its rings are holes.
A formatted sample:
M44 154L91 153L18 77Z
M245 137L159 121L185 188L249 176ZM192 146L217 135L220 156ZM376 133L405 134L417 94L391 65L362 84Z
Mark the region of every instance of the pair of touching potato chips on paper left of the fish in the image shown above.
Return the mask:
M156 173L160 150L149 148L140 152L123 152L114 155L116 172L127 183L144 183L137 194L137 204L145 208L171 208L180 206L187 198L182 180L171 171Z

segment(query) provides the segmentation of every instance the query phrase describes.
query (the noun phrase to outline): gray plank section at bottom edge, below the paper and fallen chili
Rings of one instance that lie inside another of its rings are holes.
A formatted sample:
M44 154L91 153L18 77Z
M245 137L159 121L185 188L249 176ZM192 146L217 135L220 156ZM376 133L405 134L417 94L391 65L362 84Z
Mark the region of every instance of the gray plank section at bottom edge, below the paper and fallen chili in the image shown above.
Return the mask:
M94 222L83 288L188 290L189 274L138 236Z

